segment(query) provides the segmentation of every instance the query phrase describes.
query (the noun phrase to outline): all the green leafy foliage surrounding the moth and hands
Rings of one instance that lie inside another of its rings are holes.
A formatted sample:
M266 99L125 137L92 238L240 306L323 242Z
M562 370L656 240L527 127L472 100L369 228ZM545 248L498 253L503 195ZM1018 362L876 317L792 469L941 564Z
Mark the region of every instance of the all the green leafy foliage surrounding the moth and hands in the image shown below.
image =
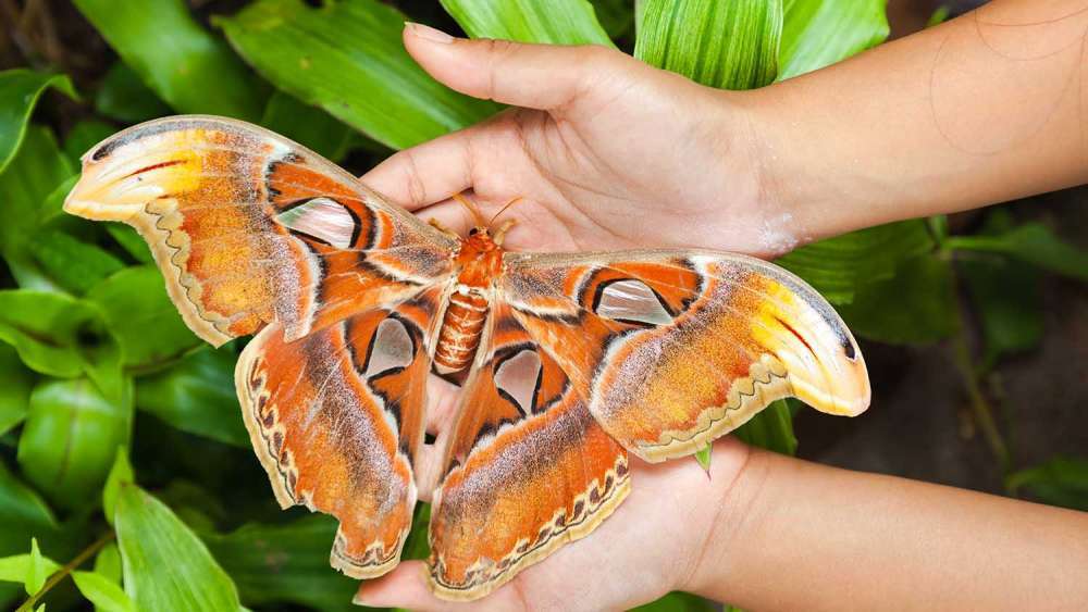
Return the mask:
M437 84L400 40L405 20L438 23L443 9L473 37L633 41L644 61L729 89L820 68L888 34L883 0L642 0L638 12L621 0L441 0L430 9L251 0L211 15L211 28L208 11L188 8L205 3L75 4L120 60L76 79L89 96L62 122L63 145L35 108L60 103L42 98L50 88L79 101L70 78L0 72L0 605L34 592L27 609L39 597L50 610L73 609L82 596L110 612L242 602L338 611L356 586L329 567L335 521L282 513L271 499L237 407L238 347L200 347L132 228L61 212L78 158L96 142L123 125L206 112L259 121L334 160L373 162L471 125L500 107ZM63 103L64 112L74 104ZM1038 345L1046 274L1088 280L1088 254L1000 210L966 234L950 235L943 217L900 222L779 263L869 341L951 338L973 408L1004 454L984 377ZM978 362L966 349L969 324L981 332ZM800 405L774 402L737 436L793 453ZM708 466L709 448L698 459ZM134 463L154 495L135 484ZM1055 458L1011 473L1007 487L1085 509L1086 474L1084 459ZM419 504L406 559L428 557L429 519ZM67 577L67 595L38 592ZM710 605L670 594L641 610Z

